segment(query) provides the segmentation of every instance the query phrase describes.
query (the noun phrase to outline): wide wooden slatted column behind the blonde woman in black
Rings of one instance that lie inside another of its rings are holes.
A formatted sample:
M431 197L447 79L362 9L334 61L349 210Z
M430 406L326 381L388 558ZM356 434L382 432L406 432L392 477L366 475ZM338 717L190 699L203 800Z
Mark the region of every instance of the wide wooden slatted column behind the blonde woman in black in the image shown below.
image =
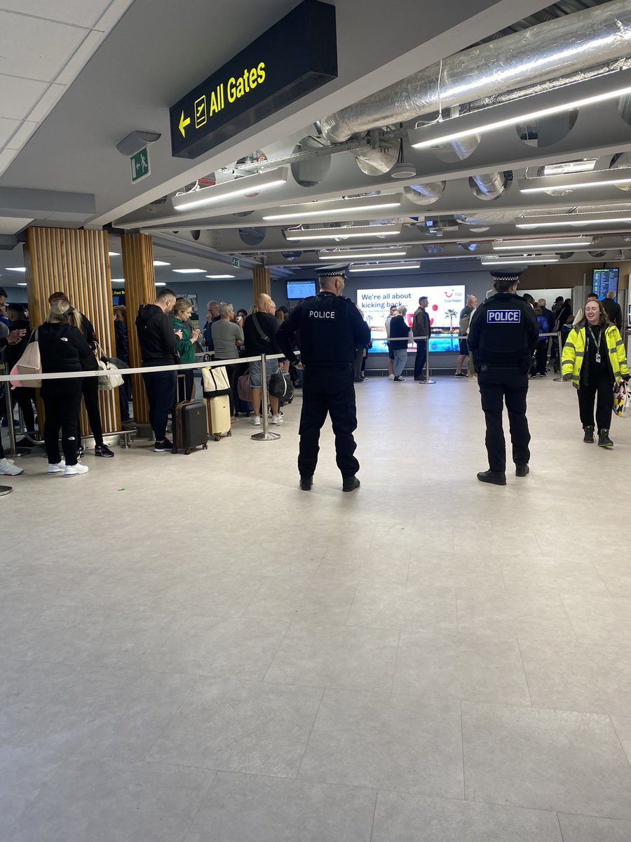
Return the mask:
M45 321L48 298L64 292L72 305L93 323L105 354L115 356L114 313L112 312L108 234L72 228L29 228L24 244L29 317L32 325ZM120 429L119 392L100 392L103 433ZM38 413L43 408L38 402ZM82 407L82 434L90 426Z

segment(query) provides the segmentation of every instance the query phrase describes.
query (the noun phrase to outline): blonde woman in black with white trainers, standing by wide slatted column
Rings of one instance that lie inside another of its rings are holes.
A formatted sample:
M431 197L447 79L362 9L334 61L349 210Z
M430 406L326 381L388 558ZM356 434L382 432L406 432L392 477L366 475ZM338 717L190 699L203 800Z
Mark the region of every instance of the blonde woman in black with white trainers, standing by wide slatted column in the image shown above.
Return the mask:
M80 328L82 314L65 299L58 298L50 305L44 324L37 329L40 344L42 374L68 371L93 371L94 353ZM78 462L77 440L82 381L97 381L96 377L44 380L41 397L44 402L44 443L48 457L49 476L63 474L78 477L87 473L87 465ZM61 429L61 450L59 432Z

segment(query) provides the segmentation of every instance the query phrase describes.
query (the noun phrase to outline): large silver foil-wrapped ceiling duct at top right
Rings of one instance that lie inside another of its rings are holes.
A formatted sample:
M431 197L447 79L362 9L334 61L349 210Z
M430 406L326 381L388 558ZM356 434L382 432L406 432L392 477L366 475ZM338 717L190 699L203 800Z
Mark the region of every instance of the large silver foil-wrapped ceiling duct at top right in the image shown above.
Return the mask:
M630 46L631 3L612 0L448 56L325 117L322 134L340 143L378 126L526 85L554 89L570 73L627 56Z

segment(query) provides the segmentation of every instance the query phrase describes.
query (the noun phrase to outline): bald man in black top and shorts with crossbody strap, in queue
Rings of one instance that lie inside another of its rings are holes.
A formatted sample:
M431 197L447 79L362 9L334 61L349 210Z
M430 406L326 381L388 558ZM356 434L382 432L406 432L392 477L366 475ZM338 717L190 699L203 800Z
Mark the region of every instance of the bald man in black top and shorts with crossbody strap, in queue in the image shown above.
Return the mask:
M272 301L272 297L266 295L264 292L257 296L257 312L248 316L243 324L243 338L248 357L256 357L261 354L281 354L276 339L276 333L280 322L274 316L276 312L276 305ZM254 409L254 417L252 424L255 427L261 424L261 396L262 396L262 376L261 376L261 362L257 360L251 362L250 366L250 386L252 386L252 408ZM273 375L274 371L278 370L278 360L268 360L265 366L266 380L268 381ZM269 396L269 404L272 407L272 424L281 424L283 416L278 412L278 397Z

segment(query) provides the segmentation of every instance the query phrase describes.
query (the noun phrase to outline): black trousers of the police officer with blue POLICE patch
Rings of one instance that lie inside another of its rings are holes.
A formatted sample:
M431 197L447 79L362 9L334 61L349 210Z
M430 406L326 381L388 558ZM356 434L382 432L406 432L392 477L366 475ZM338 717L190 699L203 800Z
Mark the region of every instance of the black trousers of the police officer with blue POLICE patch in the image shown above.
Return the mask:
M526 465L530 461L530 431L526 418L528 371L482 365L478 371L478 386L486 419L485 444L490 471L506 471L506 441L501 426L504 402L511 429L512 461L516 465Z

